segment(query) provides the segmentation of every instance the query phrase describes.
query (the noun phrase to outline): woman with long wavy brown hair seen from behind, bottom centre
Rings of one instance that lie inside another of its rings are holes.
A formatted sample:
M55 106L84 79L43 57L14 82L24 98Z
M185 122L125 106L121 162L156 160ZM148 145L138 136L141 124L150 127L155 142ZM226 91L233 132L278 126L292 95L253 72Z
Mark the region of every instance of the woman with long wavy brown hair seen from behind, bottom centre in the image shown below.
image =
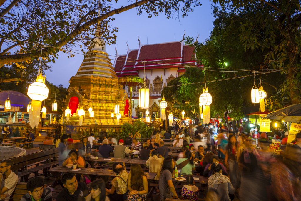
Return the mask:
M139 164L132 164L128 178L128 201L146 201L148 182Z

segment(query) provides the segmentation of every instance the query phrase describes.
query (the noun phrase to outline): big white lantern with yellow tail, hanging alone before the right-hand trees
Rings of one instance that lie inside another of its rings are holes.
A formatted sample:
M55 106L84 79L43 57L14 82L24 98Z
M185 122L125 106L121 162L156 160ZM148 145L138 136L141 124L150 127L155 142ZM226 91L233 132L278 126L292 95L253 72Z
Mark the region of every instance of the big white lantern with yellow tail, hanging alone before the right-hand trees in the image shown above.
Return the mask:
M210 122L210 105L212 103L212 96L208 92L208 87L203 88L203 93L200 95L199 98L199 105L200 105L200 114L201 119L203 119L204 124L209 124ZM203 109L203 112L202 112Z

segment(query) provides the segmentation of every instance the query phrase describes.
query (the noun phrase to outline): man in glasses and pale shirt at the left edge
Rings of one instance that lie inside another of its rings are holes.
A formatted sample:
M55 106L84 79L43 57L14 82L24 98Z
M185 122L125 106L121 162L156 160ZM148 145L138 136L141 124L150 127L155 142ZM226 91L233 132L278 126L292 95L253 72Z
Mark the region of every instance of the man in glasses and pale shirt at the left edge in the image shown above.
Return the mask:
M8 201L17 186L18 175L11 171L13 165L11 159L0 161L0 200Z

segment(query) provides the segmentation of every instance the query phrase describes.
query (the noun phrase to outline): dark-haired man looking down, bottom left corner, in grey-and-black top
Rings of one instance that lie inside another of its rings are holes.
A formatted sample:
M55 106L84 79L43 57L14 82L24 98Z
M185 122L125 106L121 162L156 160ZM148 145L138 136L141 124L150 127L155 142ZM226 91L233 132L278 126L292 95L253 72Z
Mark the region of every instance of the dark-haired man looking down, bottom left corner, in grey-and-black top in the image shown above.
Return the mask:
M33 177L26 184L28 193L22 196L21 201L51 201L51 188L44 188L42 177Z

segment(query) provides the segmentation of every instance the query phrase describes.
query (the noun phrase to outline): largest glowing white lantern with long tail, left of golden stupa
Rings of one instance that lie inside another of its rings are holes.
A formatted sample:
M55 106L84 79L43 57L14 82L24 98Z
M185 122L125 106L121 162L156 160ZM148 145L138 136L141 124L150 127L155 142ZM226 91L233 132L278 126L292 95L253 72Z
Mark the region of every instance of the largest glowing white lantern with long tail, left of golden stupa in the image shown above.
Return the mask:
M34 83L28 86L27 95L32 99L31 109L29 109L29 125L34 128L38 126L43 100L48 97L48 88L45 85L45 78L42 73L37 76Z

